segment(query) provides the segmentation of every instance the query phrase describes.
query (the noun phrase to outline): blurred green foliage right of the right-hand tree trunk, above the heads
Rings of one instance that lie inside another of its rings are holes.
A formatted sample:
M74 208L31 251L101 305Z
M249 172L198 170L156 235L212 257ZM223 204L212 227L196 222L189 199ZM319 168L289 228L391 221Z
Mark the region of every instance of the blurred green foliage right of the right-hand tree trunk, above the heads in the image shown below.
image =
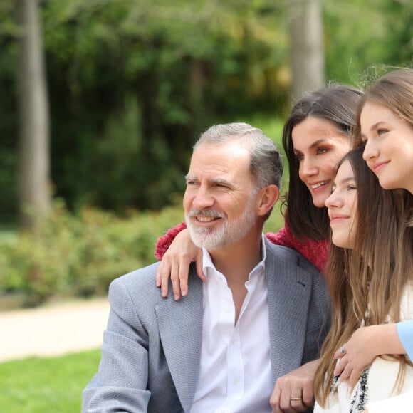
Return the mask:
M371 66L411 66L412 18L412 1L325 0L327 78L363 87Z

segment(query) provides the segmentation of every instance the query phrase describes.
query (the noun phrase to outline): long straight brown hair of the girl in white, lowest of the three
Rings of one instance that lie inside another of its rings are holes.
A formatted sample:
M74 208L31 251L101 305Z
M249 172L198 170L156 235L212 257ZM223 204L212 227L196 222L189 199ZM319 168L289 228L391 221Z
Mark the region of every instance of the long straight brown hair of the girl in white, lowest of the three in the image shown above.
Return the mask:
M330 243L326 273L333 317L315 373L315 397L321 406L330 394L334 353L362 323L399 321L404 288L412 279L413 228L407 225L412 194L382 189L362 152L363 147L357 147L340 161L350 162L358 189L357 236L354 249Z

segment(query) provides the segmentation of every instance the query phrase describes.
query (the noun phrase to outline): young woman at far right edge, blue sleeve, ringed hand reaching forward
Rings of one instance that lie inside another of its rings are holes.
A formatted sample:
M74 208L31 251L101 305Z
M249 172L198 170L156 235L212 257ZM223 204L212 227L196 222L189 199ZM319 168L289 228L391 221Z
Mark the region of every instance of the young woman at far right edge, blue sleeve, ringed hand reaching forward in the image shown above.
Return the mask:
M355 145L365 146L363 157L382 187L413 193L412 69L391 71L366 90L357 110ZM413 225L412 209L410 204L409 225ZM356 330L343 345L345 351L335 353L335 357L341 359L335 375L355 382L360 372L382 354L382 346L377 343L386 343L387 349L402 345L413 360L413 320ZM385 412L387 404L380 405Z

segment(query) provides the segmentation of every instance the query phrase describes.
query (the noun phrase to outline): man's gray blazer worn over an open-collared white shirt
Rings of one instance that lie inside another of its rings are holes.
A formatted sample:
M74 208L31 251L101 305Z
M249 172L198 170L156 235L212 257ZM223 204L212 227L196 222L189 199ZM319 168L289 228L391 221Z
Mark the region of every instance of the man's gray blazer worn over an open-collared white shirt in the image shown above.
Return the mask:
M278 377L318 357L330 328L330 300L323 276L303 256L268 241L266 249L275 385ZM155 286L158 265L111 283L102 358L83 390L82 412L191 409L202 345L202 281L192 265L188 295L175 301L169 288L162 298Z

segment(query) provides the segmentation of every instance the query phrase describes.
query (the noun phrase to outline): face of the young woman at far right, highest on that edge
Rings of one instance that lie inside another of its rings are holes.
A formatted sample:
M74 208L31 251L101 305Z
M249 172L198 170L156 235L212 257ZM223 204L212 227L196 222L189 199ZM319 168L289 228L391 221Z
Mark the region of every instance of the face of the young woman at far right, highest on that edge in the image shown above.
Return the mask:
M360 115L363 158L385 189L413 193L413 127L384 105L367 101Z

